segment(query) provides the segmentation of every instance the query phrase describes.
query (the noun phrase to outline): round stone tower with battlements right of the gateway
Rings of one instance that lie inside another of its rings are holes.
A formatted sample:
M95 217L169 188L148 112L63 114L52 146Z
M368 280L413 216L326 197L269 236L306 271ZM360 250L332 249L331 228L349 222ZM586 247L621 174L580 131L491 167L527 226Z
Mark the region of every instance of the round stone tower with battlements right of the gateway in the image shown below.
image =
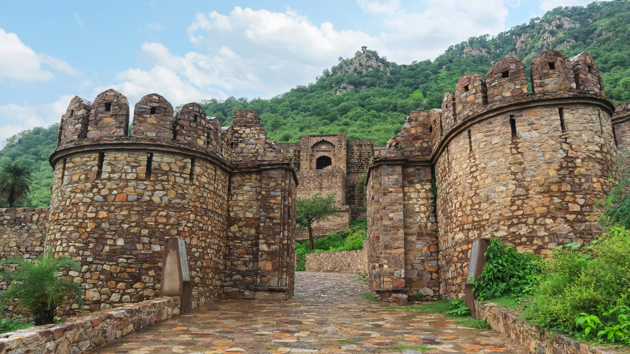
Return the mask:
M626 109L611 121L615 107L588 52L568 59L547 50L532 61L532 93L526 77L512 58L486 77L466 74L440 110L412 112L401 134L375 149L372 294L462 297L475 239L545 256L599 232L595 201L627 149Z

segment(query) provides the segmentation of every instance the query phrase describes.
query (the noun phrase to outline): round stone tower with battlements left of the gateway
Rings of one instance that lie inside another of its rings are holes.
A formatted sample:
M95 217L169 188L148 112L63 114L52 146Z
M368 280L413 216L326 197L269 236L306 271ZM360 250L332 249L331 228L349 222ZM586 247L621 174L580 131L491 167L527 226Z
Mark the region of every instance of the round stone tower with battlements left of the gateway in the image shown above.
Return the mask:
M75 97L50 155L47 245L81 261L89 309L159 296L165 237L185 239L206 299L292 295L297 179L258 114L222 128L147 94L128 134L129 109L114 89Z

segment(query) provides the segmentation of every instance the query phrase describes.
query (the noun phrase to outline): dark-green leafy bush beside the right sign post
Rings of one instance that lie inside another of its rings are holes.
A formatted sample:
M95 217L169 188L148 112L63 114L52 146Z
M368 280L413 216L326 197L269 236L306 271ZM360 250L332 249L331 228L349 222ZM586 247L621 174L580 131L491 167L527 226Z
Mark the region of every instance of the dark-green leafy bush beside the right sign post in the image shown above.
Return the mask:
M527 297L539 282L542 262L538 255L519 253L505 246L498 238L490 240L486 251L488 263L478 279L473 279L473 291L479 300L495 299L504 295Z

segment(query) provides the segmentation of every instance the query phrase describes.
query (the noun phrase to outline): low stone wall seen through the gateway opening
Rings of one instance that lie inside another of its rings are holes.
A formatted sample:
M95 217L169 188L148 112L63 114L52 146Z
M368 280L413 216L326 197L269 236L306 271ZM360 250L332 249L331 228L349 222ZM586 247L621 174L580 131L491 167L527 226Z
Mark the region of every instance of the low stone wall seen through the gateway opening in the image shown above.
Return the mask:
M306 271L357 273L365 271L364 251L340 251L306 254Z

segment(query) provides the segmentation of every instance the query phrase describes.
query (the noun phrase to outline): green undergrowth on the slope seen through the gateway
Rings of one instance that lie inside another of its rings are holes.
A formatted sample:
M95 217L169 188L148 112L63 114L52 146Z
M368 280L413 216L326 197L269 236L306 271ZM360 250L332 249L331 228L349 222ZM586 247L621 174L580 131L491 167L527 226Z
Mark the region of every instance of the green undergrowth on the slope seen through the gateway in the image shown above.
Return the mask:
M360 224L364 224L364 222L360 222ZM295 265L295 270L304 270L307 253L360 251L363 249L365 237L367 237L367 226L360 226L338 233L329 232L326 237L315 239L315 248L312 251L309 240L296 241L295 256L299 257L301 261Z

